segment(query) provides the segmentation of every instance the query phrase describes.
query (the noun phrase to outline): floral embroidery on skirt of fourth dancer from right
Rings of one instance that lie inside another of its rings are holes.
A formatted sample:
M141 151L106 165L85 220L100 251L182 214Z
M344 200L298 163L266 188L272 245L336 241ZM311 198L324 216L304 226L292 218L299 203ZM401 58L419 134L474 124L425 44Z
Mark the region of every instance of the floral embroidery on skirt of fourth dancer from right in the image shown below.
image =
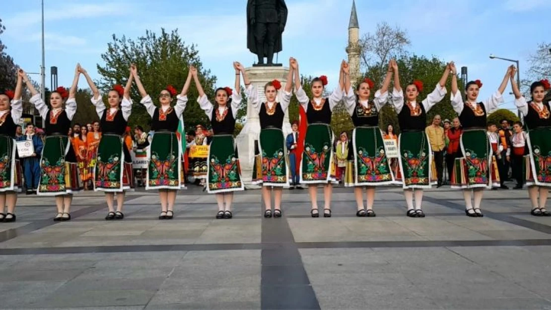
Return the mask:
M356 158L358 160L359 183L392 181L384 146L379 147L375 156L369 156L365 148L359 148Z

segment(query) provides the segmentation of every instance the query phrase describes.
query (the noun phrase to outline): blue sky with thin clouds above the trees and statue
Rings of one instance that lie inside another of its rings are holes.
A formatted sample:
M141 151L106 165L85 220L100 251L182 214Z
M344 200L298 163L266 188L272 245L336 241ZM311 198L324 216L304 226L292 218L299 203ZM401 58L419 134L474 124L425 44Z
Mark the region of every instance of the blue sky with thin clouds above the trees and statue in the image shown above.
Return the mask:
M334 86L339 63L347 57L344 48L352 0L286 3L289 17L279 62L285 64L293 56L302 74L325 74L329 86ZM233 85L231 62L250 66L255 61L246 48L245 7L246 0L45 0L46 85L50 85L49 68L57 66L58 84L68 86L77 62L94 79L100 78L96 64L102 63L100 55L112 34L136 38L161 27L178 28L186 43L198 46L204 66L217 75L218 85ZM543 13L551 9L548 0L356 0L356 8L361 34L387 21L408 32L410 52L467 66L469 79L484 83L481 100L497 89L510 64L489 59L490 53L519 59L522 78L527 56L539 42L548 40L545 29L551 29L551 20ZM39 72L40 1L4 0L0 18L6 26L2 41L9 55L28 72ZM87 86L84 79L79 86ZM505 101L505 107L512 107L507 92Z

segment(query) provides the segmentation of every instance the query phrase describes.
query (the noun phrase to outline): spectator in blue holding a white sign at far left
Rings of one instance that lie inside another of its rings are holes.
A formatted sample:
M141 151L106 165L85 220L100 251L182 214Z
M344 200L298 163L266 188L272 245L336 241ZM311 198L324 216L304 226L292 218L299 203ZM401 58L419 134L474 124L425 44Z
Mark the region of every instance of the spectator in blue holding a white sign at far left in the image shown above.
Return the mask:
M25 188L27 194L36 193L40 181L40 155L44 143L42 139L35 134L34 124L29 123L26 126L25 134L19 137L19 141L32 141L34 153L30 157L24 157L23 170L25 175Z

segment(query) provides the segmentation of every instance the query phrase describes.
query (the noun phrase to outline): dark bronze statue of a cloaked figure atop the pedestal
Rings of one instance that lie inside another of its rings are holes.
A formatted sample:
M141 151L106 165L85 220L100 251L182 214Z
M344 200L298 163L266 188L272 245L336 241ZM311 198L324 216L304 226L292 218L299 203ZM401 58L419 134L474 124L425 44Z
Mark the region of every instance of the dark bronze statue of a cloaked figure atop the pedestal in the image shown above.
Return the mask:
M273 57L274 53L282 51L285 23L285 0L247 1L247 48L258 56L257 66L277 66ZM264 57L267 64L264 64Z

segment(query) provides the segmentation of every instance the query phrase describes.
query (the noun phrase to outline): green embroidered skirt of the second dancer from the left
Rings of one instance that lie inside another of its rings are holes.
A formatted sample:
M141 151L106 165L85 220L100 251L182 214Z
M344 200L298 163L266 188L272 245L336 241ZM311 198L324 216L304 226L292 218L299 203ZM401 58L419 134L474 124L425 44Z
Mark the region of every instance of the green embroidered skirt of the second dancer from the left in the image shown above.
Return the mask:
M57 196L78 192L83 188L77 156L66 135L46 137L40 159L38 195Z

